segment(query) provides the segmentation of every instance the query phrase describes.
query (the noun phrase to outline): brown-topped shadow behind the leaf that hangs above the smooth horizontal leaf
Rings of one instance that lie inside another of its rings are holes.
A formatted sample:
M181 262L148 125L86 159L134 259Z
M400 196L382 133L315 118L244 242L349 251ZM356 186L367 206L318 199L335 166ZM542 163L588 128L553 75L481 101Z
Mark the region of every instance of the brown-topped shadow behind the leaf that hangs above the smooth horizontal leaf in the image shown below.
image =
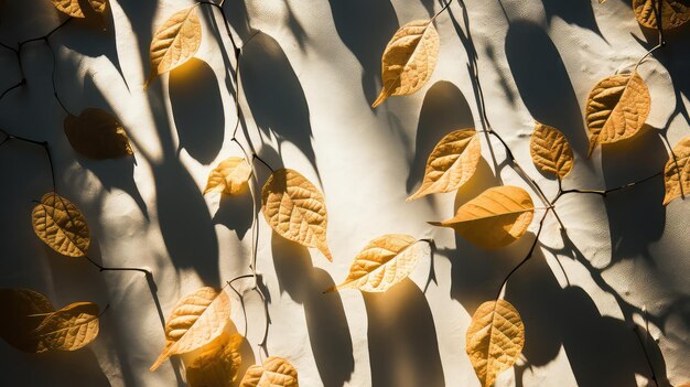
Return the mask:
M445 80L431 86L419 115L414 159L407 180L408 193L422 181L433 147L451 131L473 127L472 109L457 86Z

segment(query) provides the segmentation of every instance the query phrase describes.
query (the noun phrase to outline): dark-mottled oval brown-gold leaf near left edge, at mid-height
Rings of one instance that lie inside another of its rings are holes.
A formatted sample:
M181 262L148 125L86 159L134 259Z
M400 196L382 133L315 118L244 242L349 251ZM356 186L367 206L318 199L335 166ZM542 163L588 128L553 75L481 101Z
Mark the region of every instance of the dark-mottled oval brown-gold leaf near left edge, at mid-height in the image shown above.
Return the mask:
M31 213L33 230L53 250L68 257L84 257L90 233L82 212L68 200L48 192Z

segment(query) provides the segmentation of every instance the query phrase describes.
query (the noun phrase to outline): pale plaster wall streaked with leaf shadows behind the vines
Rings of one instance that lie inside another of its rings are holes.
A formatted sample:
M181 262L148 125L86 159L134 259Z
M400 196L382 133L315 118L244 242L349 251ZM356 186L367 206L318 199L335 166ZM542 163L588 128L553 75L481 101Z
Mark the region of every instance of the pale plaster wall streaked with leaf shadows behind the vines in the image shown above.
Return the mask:
M201 194L211 168L239 154L230 142L231 58L217 39L226 46L229 41L209 8L200 9L204 37L196 60L142 89L152 32L190 4L111 1L106 32L75 22L51 37L67 108L115 111L129 131L134 159L75 155L52 96L51 53L42 43L23 51L28 85L0 101L0 128L51 143L57 190L89 221L91 256L106 266L149 267L160 304L139 273L99 273L35 238L31 201L51 187L44 154L20 142L3 146L0 286L40 290L58 305L90 300L110 308L98 340L76 353L28 355L2 343L2 385L183 386L179 361L148 370L163 344L159 312L166 316L182 295L248 270L250 196ZM454 1L436 20L439 64L423 90L373 110L386 43L399 25L429 18L439 3L227 1L234 33L241 41L258 33L241 62L240 130L271 165L301 171L326 197L333 264L272 236L259 214L258 269L270 298L268 350L292 362L302 386L478 386L464 351L470 318L495 297L533 234L482 250L425 221L450 217L496 184L529 187L503 163L500 144L483 138L485 160L457 195L405 198L419 186L441 137L482 127L479 86L492 126L551 197L554 182L529 159L532 119L558 127L570 140L576 164L567 187L613 187L651 175L667 160L658 133L666 132L671 143L690 133L689 26L669 34L668 46L640 67L653 97L649 130L587 160L586 95L600 78L629 69L656 43L655 34L640 30L627 1L466 0L465 6ZM3 42L43 34L58 23L47 0L1 7ZM4 89L19 71L9 52L0 52L0 66ZM265 181L267 171L259 171ZM568 237L549 216L533 258L506 290L525 321L527 343L499 386L646 386L650 370L632 329L646 322L653 337L646 345L662 385L669 385L666 375L671 384L690 379L690 203L678 200L665 208L662 196L662 182L655 179L606 200L559 201ZM431 261L424 259L410 280L385 294L321 293L345 278L368 240L388 233L433 237L435 280L429 281ZM258 298L248 297L246 307L247 366L259 357L265 321ZM244 332L237 302L233 315Z

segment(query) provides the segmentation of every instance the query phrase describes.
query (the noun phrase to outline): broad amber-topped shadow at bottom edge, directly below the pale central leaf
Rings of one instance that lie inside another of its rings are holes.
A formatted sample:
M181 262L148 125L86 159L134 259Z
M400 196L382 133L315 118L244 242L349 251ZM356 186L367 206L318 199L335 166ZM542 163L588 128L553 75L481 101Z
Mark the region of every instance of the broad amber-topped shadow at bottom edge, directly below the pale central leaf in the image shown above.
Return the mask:
M371 386L445 386L435 324L410 279L385 293L363 293L368 316Z

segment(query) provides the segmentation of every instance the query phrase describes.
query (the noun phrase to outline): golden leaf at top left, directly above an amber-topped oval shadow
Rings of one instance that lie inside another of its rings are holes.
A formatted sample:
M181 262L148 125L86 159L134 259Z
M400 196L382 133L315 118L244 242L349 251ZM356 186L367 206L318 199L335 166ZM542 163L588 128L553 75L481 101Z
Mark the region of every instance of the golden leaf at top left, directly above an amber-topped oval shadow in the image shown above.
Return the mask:
M196 6L173 13L161 25L151 42L151 74L144 87L161 75L192 58L202 43L202 24Z

